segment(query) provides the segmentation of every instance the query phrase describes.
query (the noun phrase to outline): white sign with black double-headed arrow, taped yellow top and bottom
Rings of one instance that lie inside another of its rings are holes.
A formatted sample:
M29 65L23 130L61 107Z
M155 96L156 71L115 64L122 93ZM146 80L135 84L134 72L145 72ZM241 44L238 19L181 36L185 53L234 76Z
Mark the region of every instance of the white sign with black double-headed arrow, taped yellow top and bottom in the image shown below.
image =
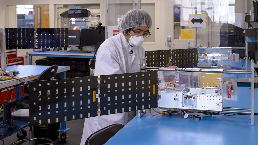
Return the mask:
M205 14L189 15L189 28L206 28L206 23L207 20Z

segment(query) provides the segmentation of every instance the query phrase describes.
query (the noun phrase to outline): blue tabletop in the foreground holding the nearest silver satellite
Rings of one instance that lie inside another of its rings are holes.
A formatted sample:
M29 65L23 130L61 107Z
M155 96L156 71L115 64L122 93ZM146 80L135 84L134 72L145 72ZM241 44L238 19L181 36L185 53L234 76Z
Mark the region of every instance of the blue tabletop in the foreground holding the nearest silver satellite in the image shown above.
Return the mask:
M224 101L226 107L249 107L249 87L238 87L238 101ZM255 89L255 94L258 89ZM255 95L257 105L257 95ZM238 103L238 106L235 106ZM234 105L234 106L231 106ZM255 107L258 112L258 107ZM158 111L158 109L156 108ZM154 111L151 111L156 114ZM194 115L196 113L190 113ZM134 117L124 128L113 136L105 145L152 145L152 144L187 144L187 145L229 145L257 144L258 116L255 115L251 126L250 115L222 116L201 115L201 120L193 120L184 115L152 116L147 111L141 118ZM256 124L257 123L257 124Z

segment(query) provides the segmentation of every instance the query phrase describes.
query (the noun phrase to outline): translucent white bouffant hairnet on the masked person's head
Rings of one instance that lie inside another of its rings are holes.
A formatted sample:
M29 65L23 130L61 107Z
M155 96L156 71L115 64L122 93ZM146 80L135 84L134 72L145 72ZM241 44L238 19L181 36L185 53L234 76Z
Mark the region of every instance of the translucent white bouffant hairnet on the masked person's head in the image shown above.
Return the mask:
M128 11L118 25L119 32L124 32L129 28L148 26L151 28L152 20L150 15L142 9L132 9Z

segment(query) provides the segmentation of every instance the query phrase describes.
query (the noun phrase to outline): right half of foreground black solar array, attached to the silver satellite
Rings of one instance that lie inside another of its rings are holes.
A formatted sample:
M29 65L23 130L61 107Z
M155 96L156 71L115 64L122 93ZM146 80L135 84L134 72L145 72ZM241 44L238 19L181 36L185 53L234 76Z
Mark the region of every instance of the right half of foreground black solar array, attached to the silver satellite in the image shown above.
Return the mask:
M157 71L101 76L100 115L157 107Z

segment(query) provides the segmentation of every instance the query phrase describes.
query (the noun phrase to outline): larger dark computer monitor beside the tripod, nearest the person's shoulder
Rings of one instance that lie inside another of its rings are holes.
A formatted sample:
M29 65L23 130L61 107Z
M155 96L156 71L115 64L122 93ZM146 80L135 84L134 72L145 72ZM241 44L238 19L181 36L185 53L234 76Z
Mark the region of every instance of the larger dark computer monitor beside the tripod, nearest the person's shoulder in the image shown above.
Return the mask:
M105 31L101 31L101 37L99 32L95 29L81 29L81 46L97 46L98 43L105 40Z

